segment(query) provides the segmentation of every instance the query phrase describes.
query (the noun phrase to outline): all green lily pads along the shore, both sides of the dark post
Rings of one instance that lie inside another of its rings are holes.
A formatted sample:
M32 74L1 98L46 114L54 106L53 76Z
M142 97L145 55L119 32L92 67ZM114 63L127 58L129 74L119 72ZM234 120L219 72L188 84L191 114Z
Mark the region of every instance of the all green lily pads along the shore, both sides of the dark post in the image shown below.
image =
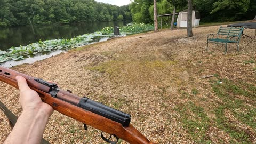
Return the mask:
M154 25L144 23L129 23L120 28L121 35L132 35L154 30ZM0 50L0 63L9 60L23 60L35 55L42 55L57 50L69 50L81 47L92 42L99 42L100 38L114 36L113 27L105 27L101 31L92 34L84 34L71 39L51 39L37 43L31 43L27 46L11 47L7 51Z

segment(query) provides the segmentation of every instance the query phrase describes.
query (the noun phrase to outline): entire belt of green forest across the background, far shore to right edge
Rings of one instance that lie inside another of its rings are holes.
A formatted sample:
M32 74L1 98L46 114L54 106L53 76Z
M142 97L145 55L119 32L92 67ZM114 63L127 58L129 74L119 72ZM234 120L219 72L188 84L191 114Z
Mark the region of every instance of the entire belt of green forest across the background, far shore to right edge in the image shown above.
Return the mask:
M187 0L157 0L158 15L173 13L174 7L176 12L187 9ZM193 9L202 22L251 20L256 0L193 0ZM0 0L0 27L113 20L153 23L153 1L119 7L94 0Z

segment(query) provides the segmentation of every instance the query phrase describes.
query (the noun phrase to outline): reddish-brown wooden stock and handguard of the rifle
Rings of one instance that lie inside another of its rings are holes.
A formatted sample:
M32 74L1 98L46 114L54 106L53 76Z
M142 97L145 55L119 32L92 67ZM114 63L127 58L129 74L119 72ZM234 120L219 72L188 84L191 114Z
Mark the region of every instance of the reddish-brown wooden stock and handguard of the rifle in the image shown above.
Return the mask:
M54 88L55 90L58 90L56 95L52 95L50 94L52 88L35 81L35 79L38 78L31 77L14 71L12 69L0 66L0 81L10 84L15 88L19 89L17 81L15 79L16 76L25 77L30 89L35 90L39 94L43 102L49 104L53 107L54 110L59 111L59 113L61 114L76 119L83 124L90 125L110 135L114 135L115 137L121 138L129 143L153 143L150 142L137 129L135 129L132 124L130 124L130 120L127 120L129 119L130 115L126 115L125 113L116 110L114 111L114 114L118 116L124 116L125 118L127 117L126 120L129 121L129 123L127 121L113 121L113 119L109 118L111 116L108 117L107 114L107 116L102 116L85 109L85 106L83 107L79 105L81 100L84 101L84 98L78 97L77 95L69 93L67 91L59 90L58 86L55 87L57 89ZM110 111L112 111L112 109L113 108L110 108Z

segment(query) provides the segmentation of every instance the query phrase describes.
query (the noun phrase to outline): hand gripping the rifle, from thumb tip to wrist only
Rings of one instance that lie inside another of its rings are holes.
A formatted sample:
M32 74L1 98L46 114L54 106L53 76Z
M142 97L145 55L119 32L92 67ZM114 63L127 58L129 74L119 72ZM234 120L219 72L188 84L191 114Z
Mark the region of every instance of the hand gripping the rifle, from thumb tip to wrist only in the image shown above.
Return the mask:
M20 90L19 102L23 111L33 111L35 113L42 112L50 117L53 113L53 108L47 103L44 103L36 91L31 90L28 87L24 77L17 76L16 80Z

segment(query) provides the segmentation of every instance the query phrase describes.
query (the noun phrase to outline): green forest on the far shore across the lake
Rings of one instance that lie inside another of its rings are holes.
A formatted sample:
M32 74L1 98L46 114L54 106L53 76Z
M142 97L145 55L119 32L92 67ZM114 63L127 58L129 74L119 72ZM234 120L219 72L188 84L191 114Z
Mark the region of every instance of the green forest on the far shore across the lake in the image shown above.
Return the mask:
M129 6L94 0L0 0L0 26L132 20Z

